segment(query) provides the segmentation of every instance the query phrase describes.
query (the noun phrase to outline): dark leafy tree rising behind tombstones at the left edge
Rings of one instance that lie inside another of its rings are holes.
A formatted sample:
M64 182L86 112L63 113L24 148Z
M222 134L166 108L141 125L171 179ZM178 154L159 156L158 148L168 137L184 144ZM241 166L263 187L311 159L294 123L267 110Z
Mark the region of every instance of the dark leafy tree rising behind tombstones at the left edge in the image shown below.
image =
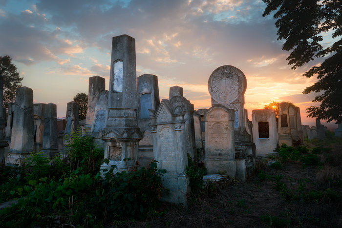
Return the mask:
M17 67L9 56L0 56L0 75L3 75L3 107L15 102L17 88L21 87L23 78L19 77Z

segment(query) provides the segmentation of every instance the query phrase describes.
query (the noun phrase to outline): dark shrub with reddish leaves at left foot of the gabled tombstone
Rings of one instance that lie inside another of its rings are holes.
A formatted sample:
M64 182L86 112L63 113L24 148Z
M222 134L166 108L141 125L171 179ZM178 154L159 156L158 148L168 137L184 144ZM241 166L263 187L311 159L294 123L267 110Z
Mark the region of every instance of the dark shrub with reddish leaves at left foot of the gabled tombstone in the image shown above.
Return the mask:
M155 209L161 197L161 176L165 169L157 169L157 161L145 167L132 166L128 171L107 172L103 189L97 191L105 214L142 217Z

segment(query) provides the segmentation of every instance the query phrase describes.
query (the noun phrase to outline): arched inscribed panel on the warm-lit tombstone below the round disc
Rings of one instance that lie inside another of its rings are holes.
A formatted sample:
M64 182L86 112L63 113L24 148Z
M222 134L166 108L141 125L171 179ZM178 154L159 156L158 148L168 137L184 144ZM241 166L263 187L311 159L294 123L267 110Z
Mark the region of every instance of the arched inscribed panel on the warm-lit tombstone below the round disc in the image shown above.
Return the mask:
M215 123L210 129L210 145L214 149L224 149L227 146L227 130L221 123Z

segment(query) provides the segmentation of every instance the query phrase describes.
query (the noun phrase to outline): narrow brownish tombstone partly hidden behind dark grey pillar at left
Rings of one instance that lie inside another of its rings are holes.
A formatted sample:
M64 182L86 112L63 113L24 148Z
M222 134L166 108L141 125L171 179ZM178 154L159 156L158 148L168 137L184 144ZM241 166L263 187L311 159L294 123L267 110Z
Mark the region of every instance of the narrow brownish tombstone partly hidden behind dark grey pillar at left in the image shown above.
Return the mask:
M38 152L43 147L45 104L33 104L33 150Z

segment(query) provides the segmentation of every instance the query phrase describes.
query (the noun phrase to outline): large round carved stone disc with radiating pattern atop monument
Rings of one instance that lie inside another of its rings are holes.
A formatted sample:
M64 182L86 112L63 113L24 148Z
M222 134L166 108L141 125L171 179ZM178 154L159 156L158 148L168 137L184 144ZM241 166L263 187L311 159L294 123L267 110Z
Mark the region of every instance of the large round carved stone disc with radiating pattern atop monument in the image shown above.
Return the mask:
M208 81L208 90L214 101L234 109L243 102L241 95L245 93L246 87L246 76L230 65L216 68Z

